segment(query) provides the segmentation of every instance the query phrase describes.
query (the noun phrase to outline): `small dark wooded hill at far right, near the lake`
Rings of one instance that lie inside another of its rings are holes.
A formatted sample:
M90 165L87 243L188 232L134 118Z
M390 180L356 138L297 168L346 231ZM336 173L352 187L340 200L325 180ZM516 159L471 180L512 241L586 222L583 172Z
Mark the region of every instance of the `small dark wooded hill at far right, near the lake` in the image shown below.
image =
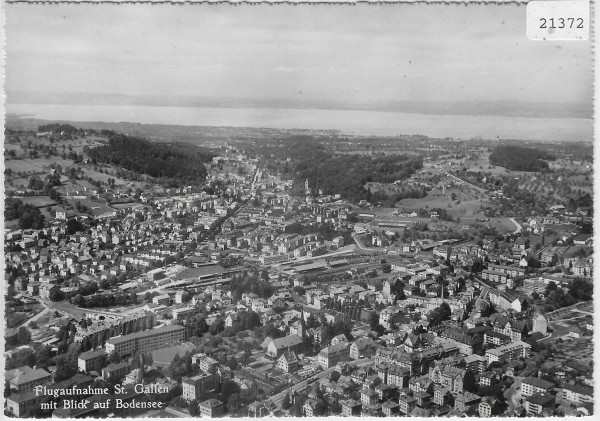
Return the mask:
M546 161L554 159L546 151L521 146L498 146L490 154L490 164L514 171L541 171L548 168Z

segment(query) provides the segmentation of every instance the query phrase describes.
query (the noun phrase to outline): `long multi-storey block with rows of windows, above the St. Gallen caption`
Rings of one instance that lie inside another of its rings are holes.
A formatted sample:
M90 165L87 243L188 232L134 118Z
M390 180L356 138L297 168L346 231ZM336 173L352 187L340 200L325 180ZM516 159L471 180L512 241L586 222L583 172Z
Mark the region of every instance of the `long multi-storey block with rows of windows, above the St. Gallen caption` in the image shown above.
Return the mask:
M144 332L119 336L106 341L106 352L117 352L120 356L144 353L164 348L168 344L183 342L185 327L179 325L164 326Z

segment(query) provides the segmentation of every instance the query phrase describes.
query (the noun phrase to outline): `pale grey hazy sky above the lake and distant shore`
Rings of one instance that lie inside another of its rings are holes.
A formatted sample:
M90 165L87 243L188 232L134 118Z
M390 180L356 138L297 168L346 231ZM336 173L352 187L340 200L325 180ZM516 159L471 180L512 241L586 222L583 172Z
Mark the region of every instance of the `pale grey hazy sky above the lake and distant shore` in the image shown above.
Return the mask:
M592 104L590 43L528 40L525 5L5 9L8 91Z

